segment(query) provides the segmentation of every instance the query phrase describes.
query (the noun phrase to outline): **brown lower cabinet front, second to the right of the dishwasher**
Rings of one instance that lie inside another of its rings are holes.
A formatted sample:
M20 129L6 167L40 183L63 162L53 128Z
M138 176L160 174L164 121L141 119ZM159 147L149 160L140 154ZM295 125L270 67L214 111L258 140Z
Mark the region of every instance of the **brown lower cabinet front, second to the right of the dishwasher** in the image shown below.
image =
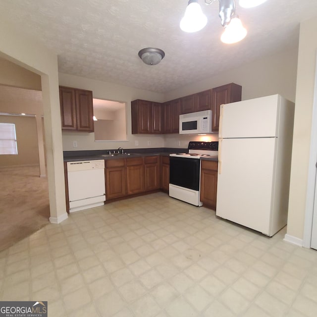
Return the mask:
M127 193L128 195L144 192L143 158L127 159Z

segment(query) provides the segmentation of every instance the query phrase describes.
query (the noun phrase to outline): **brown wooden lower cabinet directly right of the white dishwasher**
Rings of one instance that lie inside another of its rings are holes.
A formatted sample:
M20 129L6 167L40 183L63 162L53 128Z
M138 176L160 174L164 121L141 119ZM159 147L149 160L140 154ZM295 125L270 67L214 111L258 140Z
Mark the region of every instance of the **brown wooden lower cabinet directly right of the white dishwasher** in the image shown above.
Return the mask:
M126 196L125 159L106 160L106 200Z

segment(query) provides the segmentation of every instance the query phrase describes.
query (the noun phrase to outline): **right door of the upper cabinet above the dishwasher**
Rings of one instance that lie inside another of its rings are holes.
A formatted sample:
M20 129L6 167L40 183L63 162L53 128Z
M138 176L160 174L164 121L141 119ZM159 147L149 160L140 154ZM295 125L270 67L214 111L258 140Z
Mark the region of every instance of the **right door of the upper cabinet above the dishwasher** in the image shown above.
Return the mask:
M94 131L93 94L88 90L75 90L78 131Z

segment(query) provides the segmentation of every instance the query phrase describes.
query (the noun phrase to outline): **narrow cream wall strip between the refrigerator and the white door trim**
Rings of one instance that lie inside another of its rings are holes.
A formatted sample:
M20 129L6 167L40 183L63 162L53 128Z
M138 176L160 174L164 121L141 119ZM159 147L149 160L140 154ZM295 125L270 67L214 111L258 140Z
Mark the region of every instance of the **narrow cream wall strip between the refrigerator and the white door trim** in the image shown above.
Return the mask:
M302 22L298 53L287 234L303 239L314 99L317 17Z

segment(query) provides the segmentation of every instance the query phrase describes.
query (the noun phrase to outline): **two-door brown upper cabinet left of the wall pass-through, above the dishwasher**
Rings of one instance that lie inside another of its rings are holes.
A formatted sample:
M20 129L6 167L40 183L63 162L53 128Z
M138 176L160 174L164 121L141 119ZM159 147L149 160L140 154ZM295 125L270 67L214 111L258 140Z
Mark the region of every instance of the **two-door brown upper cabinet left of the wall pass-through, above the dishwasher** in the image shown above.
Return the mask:
M62 130L94 131L93 92L59 86Z

